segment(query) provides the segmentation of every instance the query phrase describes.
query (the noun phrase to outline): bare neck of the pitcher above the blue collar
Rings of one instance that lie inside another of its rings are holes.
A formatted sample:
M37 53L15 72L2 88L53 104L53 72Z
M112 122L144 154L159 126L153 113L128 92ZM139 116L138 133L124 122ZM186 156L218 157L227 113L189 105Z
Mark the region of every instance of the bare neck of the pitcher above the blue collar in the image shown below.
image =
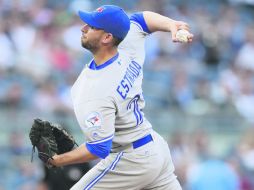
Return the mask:
M101 49L93 54L97 66L102 65L117 54L117 48Z

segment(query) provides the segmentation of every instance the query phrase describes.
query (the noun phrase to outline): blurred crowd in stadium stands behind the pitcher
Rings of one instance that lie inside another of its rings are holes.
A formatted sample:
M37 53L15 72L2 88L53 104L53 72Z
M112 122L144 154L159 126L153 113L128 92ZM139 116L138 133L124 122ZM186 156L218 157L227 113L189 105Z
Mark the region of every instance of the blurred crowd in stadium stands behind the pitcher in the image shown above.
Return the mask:
M186 21L195 35L191 45L150 35L144 68L145 114L183 189L253 190L253 0L0 0L0 190L68 189L90 167L31 163L28 132L40 117L84 141L69 90L91 55L76 13L111 3Z

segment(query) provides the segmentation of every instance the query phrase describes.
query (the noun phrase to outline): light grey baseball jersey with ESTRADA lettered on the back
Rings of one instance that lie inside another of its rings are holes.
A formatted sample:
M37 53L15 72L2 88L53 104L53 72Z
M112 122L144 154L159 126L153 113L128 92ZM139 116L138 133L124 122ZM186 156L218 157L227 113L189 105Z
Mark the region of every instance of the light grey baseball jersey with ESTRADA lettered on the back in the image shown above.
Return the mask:
M114 150L150 133L151 125L142 112L141 87L147 34L138 22L131 21L119 53L97 68L92 68L91 61L73 85L74 111L87 144L112 139Z

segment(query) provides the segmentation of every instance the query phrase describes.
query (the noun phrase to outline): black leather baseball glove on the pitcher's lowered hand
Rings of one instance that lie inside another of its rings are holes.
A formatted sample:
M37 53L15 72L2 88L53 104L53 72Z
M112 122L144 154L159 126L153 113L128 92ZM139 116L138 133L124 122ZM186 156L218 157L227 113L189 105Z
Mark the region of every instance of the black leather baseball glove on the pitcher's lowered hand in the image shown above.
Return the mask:
M73 149L75 140L58 124L53 124L41 119L35 119L29 133L31 143L33 145L33 153L35 147L38 150L38 157L44 164L51 168L50 159L53 159L55 154L62 154Z

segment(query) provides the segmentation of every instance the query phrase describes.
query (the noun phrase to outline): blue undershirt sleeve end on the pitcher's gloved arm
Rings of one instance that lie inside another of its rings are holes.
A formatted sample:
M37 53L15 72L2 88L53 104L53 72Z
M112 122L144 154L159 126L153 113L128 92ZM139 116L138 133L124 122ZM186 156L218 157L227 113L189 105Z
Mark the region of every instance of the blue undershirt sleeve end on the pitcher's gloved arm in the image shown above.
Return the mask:
M94 141L94 142L87 142L86 148L89 152L91 152L93 155L98 156L99 158L106 158L111 150L112 147L112 139L113 136L110 136L108 138Z

